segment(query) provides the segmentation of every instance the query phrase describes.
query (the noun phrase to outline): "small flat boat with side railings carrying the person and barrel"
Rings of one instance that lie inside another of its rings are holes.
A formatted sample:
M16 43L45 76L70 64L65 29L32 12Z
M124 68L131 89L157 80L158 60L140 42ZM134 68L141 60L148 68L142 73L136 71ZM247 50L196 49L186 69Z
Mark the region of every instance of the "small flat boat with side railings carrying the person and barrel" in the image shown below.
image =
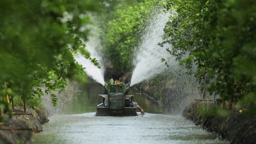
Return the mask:
M108 98L108 107L105 107L103 103L98 104L99 98L102 98L102 100L103 98ZM136 107L130 108L124 106L125 98L131 98L135 102L134 95L125 95L123 98L112 98L111 100L109 95L100 94L96 103L96 116L137 116Z

